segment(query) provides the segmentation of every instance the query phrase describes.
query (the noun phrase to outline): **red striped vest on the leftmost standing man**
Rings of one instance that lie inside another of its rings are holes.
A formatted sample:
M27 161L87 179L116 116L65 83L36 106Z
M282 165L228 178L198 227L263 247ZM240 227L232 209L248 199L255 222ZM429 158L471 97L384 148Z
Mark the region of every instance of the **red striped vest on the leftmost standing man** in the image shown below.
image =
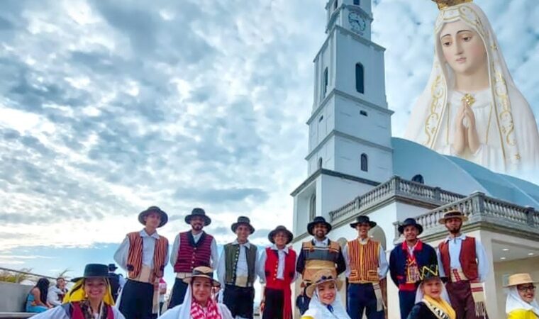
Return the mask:
M140 270L143 268L143 237L139 232L128 233L129 252L127 257L127 270L129 278L137 278ZM161 278L167 262L168 240L166 237L159 236L155 240L155 250L153 252L153 272L151 281L155 278Z

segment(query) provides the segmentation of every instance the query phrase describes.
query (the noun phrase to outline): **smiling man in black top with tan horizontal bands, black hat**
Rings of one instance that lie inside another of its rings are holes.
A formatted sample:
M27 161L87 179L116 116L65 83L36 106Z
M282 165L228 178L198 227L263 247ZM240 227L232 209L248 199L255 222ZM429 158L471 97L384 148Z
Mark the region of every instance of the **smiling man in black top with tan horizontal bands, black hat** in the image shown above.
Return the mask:
M327 237L331 231L331 224L322 216L316 216L311 223L307 224L307 232L313 239L301 243L296 271L303 279L302 286L306 289L312 284L313 276L320 269L330 269L333 277L337 278L346 270L343 252L338 242L333 242ZM304 291L305 303L299 312L304 314L309 308L310 298Z

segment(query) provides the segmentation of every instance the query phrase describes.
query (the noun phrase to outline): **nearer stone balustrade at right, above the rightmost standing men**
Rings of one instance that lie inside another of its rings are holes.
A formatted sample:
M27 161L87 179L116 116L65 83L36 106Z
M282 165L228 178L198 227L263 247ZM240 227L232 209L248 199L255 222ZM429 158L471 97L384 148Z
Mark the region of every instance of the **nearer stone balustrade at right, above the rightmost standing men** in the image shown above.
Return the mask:
M529 206L518 206L513 203L501 201L476 192L458 201L445 204L438 208L416 216L418 223L423 225L423 238L443 237L447 232L445 226L439 223L446 211L457 209L467 216L463 230L489 228L504 230L504 233L518 233L539 238L539 211ZM397 223L395 225L395 239L399 238Z

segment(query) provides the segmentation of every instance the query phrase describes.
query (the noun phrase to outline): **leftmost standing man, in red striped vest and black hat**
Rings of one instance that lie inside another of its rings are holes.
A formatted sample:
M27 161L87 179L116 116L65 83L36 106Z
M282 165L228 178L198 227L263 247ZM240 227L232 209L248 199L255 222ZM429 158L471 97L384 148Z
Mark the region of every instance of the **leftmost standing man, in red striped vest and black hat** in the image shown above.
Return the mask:
M168 240L157 228L168 221L167 213L151 206L138 214L144 229L128 233L114 254L116 264L128 272L120 306L126 319L150 319L159 308L159 279L168 260Z

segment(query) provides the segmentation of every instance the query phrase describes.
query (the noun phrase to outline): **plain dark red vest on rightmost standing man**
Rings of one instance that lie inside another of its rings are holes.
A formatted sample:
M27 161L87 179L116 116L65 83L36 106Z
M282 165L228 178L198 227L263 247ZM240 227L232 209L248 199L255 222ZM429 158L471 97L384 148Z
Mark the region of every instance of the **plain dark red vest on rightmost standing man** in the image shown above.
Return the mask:
M449 256L449 241L444 240L438 245L440 250L440 257L442 259L443 271L445 276L451 277L451 260ZM466 275L467 279L477 279L477 260L475 254L475 238L466 236L465 240L462 240L462 247L460 247L460 267L462 272Z

